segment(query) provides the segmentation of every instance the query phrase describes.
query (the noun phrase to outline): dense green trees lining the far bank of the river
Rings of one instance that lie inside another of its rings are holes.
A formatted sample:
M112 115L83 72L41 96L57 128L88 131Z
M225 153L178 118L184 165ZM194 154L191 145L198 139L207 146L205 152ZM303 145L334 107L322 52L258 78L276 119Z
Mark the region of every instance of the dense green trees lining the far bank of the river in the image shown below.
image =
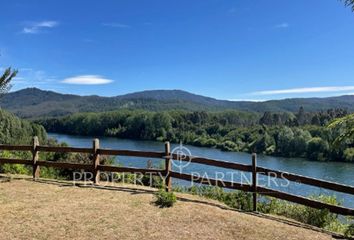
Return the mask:
M169 140L225 151L256 152L317 161L354 161L353 144L336 139L342 130L327 127L345 116L344 110L297 114L248 112L147 112L80 113L42 123L50 132L113 136L144 140ZM266 120L271 116L275 122ZM315 121L314 119L319 119Z

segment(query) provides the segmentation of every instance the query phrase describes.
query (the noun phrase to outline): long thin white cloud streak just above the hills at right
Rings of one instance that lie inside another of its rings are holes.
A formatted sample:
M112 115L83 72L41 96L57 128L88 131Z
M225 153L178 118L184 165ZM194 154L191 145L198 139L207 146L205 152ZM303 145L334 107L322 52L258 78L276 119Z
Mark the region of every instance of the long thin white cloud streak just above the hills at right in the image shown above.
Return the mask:
M294 93L320 93L320 92L344 92L353 91L354 86L331 86L331 87L311 87L311 88L290 88L280 90L266 90L251 93L252 95L277 95Z

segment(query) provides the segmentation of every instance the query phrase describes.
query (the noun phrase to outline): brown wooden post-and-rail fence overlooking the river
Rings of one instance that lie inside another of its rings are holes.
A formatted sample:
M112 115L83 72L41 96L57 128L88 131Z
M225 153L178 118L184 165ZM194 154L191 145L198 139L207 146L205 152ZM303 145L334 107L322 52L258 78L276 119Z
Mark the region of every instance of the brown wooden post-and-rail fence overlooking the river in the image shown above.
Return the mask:
M257 210L257 195L271 196L278 199L306 205L309 207L317 209L328 209L330 212L340 214L340 215L351 215L354 216L354 209L346 208L343 206L331 205L328 203L320 202L303 196L297 196L278 190L266 188L263 186L257 186L257 177L259 174L266 175L269 177L276 177L279 179L287 179L288 181L295 181L302 184L307 184L315 187L325 188L329 190L334 190L337 192L342 192L346 194L354 195L354 187L338 184L334 182L319 180L315 178L305 177L297 174L292 174L288 172L282 172L278 170L272 170L264 167L257 166L257 156L252 154L252 164L245 165L235 162L226 162L221 160L186 156L181 159L177 154L171 153L170 143L165 143L165 149L161 152L147 152L147 151L132 151L132 150L111 150L102 149L99 146L99 140L94 139L92 148L74 148L74 147L52 147L52 146L41 146L39 145L38 138L33 138L32 145L0 145L1 150L8 151L30 151L32 153L32 159L9 159L0 158L0 164L25 164L31 165L33 167L33 179L37 179L40 176L40 166L54 167L54 168L64 168L73 170L86 170L93 173L94 183L99 183L100 171L105 172L129 172L129 173L149 173L149 174L160 174L165 178L166 191L172 190L171 178L182 179L186 181L192 181L195 183L209 184L213 186L219 186L228 189L242 190L245 192L251 192L253 195L253 210ZM65 163L65 162L54 162L54 161L43 161L39 160L39 152L60 152L60 153L87 153L92 155L92 164L79 164L79 163ZM154 169L154 168L133 168L133 167L120 167L120 166L108 166L100 164L101 155L115 155L115 156L131 156L131 157L143 157L143 158L160 158L165 160L164 169ZM229 182L220 179L202 178L199 176L193 176L190 174L175 172L171 168L171 161L188 161L191 163L204 164L214 167L221 167L231 170L238 170L243 172L250 172L252 174L251 184L241 184L237 182Z

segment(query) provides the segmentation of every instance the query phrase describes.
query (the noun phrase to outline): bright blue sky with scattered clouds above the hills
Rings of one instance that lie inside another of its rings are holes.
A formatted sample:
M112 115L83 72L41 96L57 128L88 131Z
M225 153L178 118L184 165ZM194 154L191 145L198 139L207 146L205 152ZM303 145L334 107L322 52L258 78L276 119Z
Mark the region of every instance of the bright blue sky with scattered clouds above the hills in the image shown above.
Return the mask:
M354 13L338 0L13 0L1 12L13 90L354 94Z

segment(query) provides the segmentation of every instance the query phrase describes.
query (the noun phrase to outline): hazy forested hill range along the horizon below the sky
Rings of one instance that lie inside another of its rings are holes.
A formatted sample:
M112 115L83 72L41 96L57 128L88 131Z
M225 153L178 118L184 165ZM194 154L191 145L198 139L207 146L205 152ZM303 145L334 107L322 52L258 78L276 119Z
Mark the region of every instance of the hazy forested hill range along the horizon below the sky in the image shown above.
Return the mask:
M152 111L242 110L255 112L297 112L345 108L354 111L354 96L330 98L293 98L266 102L226 101L204 97L181 90L152 90L116 97L77 96L27 88L7 94L0 106L23 118L59 117L76 112L104 112L119 109Z

